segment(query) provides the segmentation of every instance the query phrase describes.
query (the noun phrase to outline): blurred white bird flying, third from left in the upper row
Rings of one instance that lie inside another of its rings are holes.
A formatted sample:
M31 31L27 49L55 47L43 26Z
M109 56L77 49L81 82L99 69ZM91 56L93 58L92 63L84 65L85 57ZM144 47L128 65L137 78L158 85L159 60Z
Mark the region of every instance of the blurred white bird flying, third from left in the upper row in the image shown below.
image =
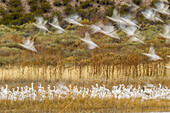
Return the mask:
M79 23L81 21L81 17L79 17L79 15L77 15L77 14L70 15L70 16L64 18L64 20L71 24L75 24L78 26L84 26L83 24Z

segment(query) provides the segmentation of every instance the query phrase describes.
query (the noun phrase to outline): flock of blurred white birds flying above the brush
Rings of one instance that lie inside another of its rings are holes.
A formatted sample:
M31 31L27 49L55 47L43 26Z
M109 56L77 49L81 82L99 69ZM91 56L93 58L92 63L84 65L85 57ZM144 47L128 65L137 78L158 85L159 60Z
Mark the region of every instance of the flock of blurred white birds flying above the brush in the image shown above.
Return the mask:
M167 16L170 15L168 4L169 2L167 0L162 0L162 1L154 3L155 7L150 7L145 10L143 10L141 7L134 4L132 1L130 2L130 4L127 4L127 5L134 7L136 10L142 9L141 14L143 14L143 16L147 20L154 21L154 22L160 21L163 23L164 21L159 17L159 14L161 13ZM138 26L137 24L138 22L135 19L133 19L130 14L127 14L126 16L125 15L120 16L119 12L116 9L114 9L112 17L106 16L106 18L117 23L119 28L127 34L127 36L129 37L129 41L135 41L135 42L145 44L144 41L142 40L143 37L139 35L140 31L138 30L138 28L140 28L140 26ZM35 17L35 19L37 20L37 22L33 24L37 28L39 28L41 31L44 31L44 33L49 32L49 30L46 27L47 20L44 20L43 17ZM110 36L112 38L120 39L120 37L117 35L117 30L115 30L114 26L110 23L103 24L102 22L98 22L94 25L83 25L81 24L81 20L82 20L81 17L77 14L70 15L64 18L63 20L69 22L70 24L74 24L77 26L89 26L92 29L92 34L99 32L104 35ZM54 16L52 23L49 22L48 24L56 28L59 34L63 32L67 32L65 29L63 29L60 26L57 16ZM163 34L160 33L159 35L161 37L166 38L166 40L169 41L170 40L170 24L164 24L164 33ZM95 44L91 40L90 34L88 32L85 33L85 38L84 39L80 38L80 40L85 42L88 45L89 49L100 48L97 44ZM20 45L26 49L37 52L36 48L34 47L33 39L31 40L28 38L27 40L23 41L23 44L20 44ZM146 55L152 61L162 60L162 58L155 53L155 49L153 46L150 47L149 53L143 53L143 55Z

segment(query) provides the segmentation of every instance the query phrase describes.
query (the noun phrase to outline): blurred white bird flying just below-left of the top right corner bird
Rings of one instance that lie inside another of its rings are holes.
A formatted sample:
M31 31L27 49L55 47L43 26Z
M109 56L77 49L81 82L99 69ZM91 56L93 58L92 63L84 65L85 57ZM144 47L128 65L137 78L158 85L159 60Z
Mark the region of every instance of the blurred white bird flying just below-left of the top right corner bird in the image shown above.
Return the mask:
M143 16L151 21L160 21L163 22L159 17L156 16L156 11L154 11L152 8L146 9L145 11L142 11Z

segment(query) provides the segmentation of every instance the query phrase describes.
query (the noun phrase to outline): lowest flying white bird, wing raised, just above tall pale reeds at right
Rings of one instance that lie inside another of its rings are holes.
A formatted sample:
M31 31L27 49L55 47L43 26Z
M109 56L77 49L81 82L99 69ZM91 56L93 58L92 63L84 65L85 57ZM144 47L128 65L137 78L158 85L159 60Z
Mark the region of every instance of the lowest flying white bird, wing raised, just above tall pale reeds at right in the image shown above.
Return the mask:
M162 60L162 58L160 56L155 54L155 49L153 46L150 47L149 53L142 53L142 54L149 57L151 61Z

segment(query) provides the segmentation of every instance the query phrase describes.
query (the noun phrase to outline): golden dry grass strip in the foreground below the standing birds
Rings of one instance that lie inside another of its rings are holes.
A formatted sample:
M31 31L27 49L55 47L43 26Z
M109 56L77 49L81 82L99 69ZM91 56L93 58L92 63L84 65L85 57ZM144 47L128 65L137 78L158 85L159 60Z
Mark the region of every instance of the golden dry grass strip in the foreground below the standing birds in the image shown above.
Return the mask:
M4 112L142 112L169 111L170 101L140 99L61 99L44 101L0 101Z

